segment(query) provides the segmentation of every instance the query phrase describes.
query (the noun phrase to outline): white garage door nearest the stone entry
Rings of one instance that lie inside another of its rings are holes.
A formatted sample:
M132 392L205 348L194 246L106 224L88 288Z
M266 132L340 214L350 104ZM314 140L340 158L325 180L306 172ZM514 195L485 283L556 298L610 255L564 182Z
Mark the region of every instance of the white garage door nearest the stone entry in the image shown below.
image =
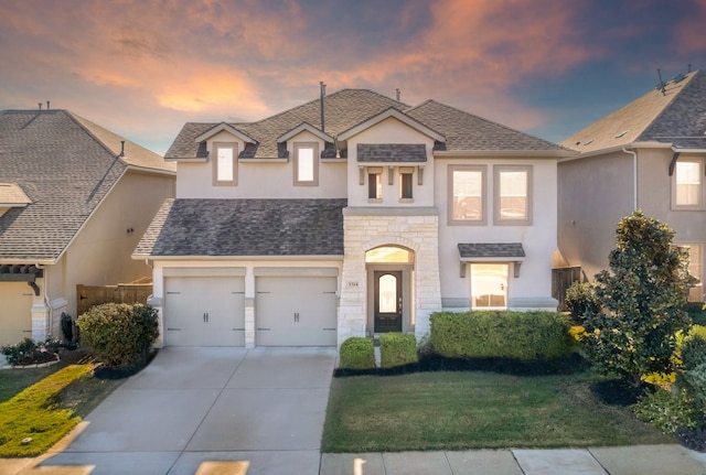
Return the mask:
M335 277L258 277L258 346L335 346Z

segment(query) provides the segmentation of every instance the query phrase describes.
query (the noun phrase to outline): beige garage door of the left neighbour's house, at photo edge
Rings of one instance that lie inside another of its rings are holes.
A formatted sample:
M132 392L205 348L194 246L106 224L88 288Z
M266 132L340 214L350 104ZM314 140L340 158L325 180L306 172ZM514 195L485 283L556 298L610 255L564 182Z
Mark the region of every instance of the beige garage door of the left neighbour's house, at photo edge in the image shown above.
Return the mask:
M0 282L0 346L32 337L32 295L26 282Z

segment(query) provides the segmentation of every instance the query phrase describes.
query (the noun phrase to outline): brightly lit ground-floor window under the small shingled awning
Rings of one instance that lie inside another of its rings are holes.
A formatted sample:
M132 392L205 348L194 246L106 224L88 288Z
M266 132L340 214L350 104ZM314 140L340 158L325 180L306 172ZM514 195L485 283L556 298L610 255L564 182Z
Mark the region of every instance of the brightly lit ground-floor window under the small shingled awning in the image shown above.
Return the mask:
M507 309L506 263L471 263L471 309Z

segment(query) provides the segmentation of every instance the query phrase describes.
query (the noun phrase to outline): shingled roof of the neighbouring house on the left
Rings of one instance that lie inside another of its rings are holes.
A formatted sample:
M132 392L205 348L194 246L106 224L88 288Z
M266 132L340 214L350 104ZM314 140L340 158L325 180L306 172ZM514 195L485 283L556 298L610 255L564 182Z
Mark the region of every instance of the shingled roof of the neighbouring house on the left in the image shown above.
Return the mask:
M128 169L175 172L157 153L67 110L0 111L0 183L19 186L31 202L0 216L0 262L55 262Z

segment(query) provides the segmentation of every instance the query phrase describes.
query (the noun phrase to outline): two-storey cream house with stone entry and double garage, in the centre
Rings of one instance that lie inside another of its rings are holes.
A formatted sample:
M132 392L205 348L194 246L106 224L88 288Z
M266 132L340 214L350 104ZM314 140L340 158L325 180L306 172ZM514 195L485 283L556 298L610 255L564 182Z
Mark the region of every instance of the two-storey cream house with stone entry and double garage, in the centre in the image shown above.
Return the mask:
M323 118L323 120L322 120ZM556 144L434 100L344 89L186 123L176 198L133 258L163 345L421 337L435 311L556 310Z

